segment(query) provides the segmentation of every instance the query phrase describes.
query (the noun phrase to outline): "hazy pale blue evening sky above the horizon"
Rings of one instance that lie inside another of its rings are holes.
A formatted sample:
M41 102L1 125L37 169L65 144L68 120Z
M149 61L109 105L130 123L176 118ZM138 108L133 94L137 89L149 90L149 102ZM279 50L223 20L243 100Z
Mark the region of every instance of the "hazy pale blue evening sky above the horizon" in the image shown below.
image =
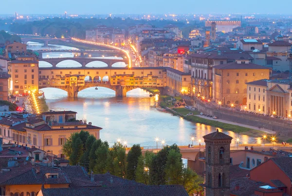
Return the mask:
M0 0L3 14L290 14L290 0Z

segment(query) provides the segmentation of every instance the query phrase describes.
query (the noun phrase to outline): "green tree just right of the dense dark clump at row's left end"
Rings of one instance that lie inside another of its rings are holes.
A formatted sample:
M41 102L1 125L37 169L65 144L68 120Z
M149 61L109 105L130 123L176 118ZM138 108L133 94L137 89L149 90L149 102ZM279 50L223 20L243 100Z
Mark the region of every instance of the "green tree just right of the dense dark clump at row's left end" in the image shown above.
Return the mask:
M106 167L108 152L109 152L108 143L102 143L102 145L95 151L97 157L93 170L95 174L104 174L107 172Z

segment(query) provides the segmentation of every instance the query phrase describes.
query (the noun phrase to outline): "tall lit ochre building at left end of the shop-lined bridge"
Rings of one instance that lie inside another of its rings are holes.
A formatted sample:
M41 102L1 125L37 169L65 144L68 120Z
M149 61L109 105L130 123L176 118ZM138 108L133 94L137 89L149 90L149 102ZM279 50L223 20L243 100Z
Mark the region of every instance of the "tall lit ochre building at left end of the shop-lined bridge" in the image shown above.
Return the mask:
M35 56L17 56L8 64L9 90L13 94L38 90L38 61Z

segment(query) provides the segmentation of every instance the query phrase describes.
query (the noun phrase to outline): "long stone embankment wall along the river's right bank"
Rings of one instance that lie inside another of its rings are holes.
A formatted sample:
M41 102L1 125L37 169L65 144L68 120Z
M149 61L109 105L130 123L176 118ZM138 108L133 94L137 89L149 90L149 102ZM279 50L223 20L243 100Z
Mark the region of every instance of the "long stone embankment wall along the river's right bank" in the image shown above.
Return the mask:
M213 107L212 105L202 103L198 99L194 100L193 105L198 108L198 111L208 115L216 115L222 120L274 130L281 135L292 135L292 133L290 133L292 132L292 121L244 113L237 111L236 109L230 110L223 107Z

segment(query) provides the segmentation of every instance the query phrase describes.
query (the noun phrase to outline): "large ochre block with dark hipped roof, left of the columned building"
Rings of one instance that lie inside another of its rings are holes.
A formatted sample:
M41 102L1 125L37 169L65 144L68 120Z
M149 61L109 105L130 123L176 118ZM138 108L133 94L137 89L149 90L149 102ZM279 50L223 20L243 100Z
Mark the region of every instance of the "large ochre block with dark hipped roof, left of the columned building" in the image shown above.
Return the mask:
M249 60L238 59L236 62L214 66L213 74L213 101L221 102L223 106L236 106L246 105L246 83L269 79L270 70L249 63Z

